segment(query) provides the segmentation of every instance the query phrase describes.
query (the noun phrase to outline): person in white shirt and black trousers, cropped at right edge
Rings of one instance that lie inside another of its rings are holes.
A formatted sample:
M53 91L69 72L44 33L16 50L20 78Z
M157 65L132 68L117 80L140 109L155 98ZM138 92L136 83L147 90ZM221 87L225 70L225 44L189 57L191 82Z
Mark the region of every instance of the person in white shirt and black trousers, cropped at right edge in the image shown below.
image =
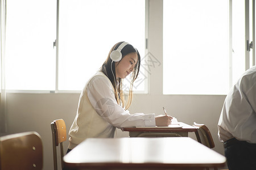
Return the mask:
M256 67L247 70L226 96L218 121L228 168L256 169Z

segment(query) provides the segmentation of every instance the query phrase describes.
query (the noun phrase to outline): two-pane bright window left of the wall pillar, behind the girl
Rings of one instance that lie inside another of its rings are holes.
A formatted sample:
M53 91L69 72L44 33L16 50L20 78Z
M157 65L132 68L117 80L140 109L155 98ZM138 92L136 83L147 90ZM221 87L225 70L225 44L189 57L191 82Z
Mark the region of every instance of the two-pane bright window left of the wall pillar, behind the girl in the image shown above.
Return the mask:
M144 0L59 1L59 43L53 48L56 9L51 0L8 1L8 90L81 91L119 41L134 45L144 57ZM144 91L142 74L135 91Z

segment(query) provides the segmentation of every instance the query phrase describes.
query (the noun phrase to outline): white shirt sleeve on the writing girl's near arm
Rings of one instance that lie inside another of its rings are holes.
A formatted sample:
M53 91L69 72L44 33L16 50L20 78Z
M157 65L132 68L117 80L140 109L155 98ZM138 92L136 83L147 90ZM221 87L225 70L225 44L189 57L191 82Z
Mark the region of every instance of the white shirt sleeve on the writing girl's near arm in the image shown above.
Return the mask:
M125 111L115 100L113 86L104 76L94 76L86 87L88 99L96 112L117 128L155 126L155 114Z

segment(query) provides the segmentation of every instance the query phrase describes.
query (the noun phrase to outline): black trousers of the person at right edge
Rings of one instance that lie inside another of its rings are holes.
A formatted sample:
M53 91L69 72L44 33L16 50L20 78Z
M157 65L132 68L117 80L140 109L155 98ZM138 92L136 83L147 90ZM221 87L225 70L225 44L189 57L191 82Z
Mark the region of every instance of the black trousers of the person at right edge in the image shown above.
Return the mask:
M256 169L256 144L238 141L236 138L224 142L229 170Z

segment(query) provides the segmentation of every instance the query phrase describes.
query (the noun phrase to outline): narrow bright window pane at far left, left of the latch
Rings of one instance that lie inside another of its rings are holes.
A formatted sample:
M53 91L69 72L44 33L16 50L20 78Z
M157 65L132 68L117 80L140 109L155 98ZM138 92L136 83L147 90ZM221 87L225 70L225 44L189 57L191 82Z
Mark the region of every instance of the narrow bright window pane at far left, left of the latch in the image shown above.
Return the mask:
M55 89L55 39L56 1L7 2L6 89Z

